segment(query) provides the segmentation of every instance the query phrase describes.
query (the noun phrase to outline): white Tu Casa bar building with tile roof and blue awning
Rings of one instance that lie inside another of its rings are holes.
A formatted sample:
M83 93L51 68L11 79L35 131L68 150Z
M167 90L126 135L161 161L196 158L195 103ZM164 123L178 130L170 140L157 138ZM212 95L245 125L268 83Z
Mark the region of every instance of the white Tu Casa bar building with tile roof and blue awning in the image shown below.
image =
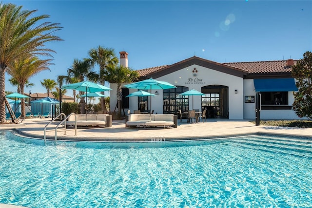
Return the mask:
M169 82L176 88L152 90L152 94L157 95L152 97L152 101L149 97L125 97L137 90L123 88L123 107L131 112L139 109L154 110L154 113L207 109L208 117L254 119L255 103L258 100L256 92L259 92L260 119L299 119L292 110L292 93L297 88L291 73L292 65L296 62L297 60L288 59L218 63L194 56L171 65L137 70L138 81L152 77ZM115 85L110 84L113 89L110 92L111 107L115 107L117 103ZM205 95L179 95L191 89ZM153 103L153 109L149 109L149 102Z

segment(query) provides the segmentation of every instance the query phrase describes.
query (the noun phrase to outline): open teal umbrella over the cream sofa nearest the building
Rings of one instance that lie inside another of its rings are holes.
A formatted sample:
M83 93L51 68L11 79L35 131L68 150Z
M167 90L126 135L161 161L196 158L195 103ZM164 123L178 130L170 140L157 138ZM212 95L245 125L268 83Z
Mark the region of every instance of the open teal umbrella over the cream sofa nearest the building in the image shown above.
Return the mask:
M172 85L169 82L158 81L153 78L127 84L125 85L125 87L129 89L151 90L151 93L152 93L152 89L153 90L165 90L165 89L176 88L175 85ZM151 110L151 115L152 115L152 96L150 95L150 97L151 97L150 110Z

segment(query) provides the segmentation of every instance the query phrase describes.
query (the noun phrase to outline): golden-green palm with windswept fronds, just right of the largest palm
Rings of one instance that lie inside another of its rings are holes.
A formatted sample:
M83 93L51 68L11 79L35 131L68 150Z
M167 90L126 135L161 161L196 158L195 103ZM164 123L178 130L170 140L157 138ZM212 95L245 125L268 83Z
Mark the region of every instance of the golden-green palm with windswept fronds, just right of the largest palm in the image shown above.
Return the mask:
M38 57L23 57L13 61L7 68L7 73L11 75L20 85L20 94L24 95L24 87L28 79L43 70L50 70L49 65L52 59L40 60ZM25 116L25 102L21 100L21 113Z

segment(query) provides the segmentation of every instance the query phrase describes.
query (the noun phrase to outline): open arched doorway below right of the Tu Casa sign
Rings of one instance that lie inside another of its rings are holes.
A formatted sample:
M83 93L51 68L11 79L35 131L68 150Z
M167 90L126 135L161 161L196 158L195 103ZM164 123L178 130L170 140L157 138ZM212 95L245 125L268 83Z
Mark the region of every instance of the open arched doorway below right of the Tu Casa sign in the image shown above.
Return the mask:
M207 85L201 88L205 95L201 97L202 111L206 108L208 117L229 117L229 87L223 85Z

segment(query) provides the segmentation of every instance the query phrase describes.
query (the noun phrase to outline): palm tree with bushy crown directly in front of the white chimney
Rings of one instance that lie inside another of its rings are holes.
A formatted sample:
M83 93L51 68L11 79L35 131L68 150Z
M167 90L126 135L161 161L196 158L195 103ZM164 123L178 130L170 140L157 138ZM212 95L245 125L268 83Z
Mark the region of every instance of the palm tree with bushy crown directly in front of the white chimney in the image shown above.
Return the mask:
M112 66L110 65L106 69L106 79L109 82L117 83L117 105L118 105L118 119L121 119L121 100L122 100L122 89L121 84L125 82L133 82L137 80L138 73L128 67L121 65Z

